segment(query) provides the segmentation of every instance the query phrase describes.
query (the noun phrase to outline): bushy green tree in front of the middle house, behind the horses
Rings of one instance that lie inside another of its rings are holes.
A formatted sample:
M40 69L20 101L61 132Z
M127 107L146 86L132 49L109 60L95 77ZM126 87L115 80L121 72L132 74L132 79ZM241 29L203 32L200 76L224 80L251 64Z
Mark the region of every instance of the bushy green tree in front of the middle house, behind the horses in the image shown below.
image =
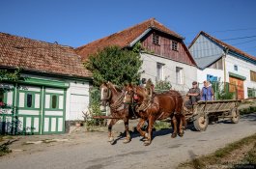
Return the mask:
M139 44L135 49L122 49L118 46L108 46L97 54L90 55L85 67L93 72L94 83L100 86L102 82L111 81L116 85L136 83L140 77L142 65Z

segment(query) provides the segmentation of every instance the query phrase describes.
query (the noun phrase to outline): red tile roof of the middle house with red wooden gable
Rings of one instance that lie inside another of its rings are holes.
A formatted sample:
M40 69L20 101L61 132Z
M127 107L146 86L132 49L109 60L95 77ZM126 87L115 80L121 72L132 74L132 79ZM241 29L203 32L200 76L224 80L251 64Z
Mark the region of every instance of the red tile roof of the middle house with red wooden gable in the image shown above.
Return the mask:
M90 54L94 54L108 45L118 45L120 47L128 46L130 42L136 40L149 28L153 28L166 34L172 35L176 38L183 39L183 37L181 37L179 34L171 31L170 29L166 28L164 25L156 21L155 18L151 18L135 26L129 27L128 29L125 29L121 32L112 34L95 42L90 42L88 44L82 45L76 48L75 51L77 54L82 56L83 60L86 60L86 58Z

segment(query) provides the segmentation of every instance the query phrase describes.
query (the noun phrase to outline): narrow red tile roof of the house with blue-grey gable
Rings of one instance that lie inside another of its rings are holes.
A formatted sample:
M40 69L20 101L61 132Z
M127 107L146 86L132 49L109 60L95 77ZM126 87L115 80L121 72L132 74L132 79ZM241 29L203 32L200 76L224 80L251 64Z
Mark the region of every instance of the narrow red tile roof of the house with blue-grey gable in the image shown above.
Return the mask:
M230 45L230 44L228 44L228 43L226 43L226 42L222 42L222 41L220 41L220 40L218 40L218 39L216 39L216 38L213 38L211 35L207 34L207 33L204 32L204 31L201 31L201 32L196 36L196 38L190 43L190 45L188 46L188 48L190 48L190 47L193 45L193 43L196 42L196 40L198 39L198 37L199 37L200 35L204 35L204 36L208 37L210 40L212 40L213 42L216 42L216 43L220 44L220 45L223 46L223 47L227 47L229 50L232 50L232 51L234 51L234 52L236 52L236 53L238 53L238 54L241 54L242 56L245 56L245 57L247 57L247 58L249 58L249 59L252 59L252 60L255 60L255 61L256 61L256 57L254 57L254 56L252 56L252 55L249 55L248 53L245 53L245 52L242 51L241 49L239 49L239 48L237 48L237 47L234 47L234 46L232 46L232 45Z

